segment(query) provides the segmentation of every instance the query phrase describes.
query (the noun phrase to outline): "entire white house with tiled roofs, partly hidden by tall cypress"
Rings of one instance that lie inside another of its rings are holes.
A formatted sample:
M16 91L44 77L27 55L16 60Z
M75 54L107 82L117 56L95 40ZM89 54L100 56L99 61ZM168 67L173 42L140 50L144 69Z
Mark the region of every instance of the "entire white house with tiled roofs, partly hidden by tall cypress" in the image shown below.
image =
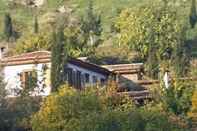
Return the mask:
M50 69L51 53L36 51L18 56L0 59L3 66L5 82L10 96L16 96L17 91L27 88L28 84L35 82L32 95L49 95L51 92ZM75 88L82 89L96 83L105 84L109 76L124 79L140 80L142 64L123 64L99 66L82 59L71 58L65 65L65 78ZM118 77L117 77L118 76ZM31 81L29 83L29 81Z

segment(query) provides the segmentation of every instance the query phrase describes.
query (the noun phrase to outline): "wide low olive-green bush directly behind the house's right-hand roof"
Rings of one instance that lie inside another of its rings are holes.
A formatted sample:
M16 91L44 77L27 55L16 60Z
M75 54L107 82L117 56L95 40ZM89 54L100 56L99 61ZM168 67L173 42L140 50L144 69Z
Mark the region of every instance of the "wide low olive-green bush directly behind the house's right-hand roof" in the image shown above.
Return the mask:
M129 47L116 45L105 45L98 47L94 54L89 56L88 60L99 65L141 62L138 54L134 51L131 52Z

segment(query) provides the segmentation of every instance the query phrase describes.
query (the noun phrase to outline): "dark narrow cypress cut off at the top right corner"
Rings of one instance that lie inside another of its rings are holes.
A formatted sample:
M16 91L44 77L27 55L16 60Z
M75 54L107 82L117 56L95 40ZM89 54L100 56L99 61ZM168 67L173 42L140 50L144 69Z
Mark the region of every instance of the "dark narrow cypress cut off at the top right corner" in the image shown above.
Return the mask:
M194 28L197 22L196 0L192 0L191 11L190 11L189 17L190 17L191 28Z

